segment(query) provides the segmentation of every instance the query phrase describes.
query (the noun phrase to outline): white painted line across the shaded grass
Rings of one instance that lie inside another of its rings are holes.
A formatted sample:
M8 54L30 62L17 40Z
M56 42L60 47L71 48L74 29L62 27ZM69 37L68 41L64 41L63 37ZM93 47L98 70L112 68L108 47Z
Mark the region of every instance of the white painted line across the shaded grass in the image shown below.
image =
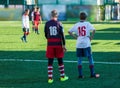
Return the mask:
M48 62L47 60L24 60L24 59L0 59L0 62ZM56 60L54 62L57 62ZM77 63L77 61L64 60L65 63ZM83 63L88 63L88 61L83 61ZM111 64L111 65L120 65L120 62L101 62L94 61L95 64Z

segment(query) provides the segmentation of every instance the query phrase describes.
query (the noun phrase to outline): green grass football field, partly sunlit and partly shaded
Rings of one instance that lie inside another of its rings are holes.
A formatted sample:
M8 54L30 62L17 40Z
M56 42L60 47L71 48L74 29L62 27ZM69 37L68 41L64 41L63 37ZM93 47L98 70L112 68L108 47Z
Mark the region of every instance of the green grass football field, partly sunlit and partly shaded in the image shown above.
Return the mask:
M73 26L63 24L67 52L64 61L77 61L76 40L67 31ZM21 22L0 21L0 88L119 88L120 87L120 24L93 24L96 28L92 51L96 73L100 78L89 78L88 64L83 63L85 79L77 79L77 63L65 62L66 82L59 81L58 65L54 63L54 83L47 83L46 39L44 24L40 35L31 31L28 43L23 43ZM35 61L36 60L36 61ZM83 61L87 61L84 58ZM105 62L105 63L102 63ZM109 63L107 63L109 62ZM110 64L114 62L113 64Z

